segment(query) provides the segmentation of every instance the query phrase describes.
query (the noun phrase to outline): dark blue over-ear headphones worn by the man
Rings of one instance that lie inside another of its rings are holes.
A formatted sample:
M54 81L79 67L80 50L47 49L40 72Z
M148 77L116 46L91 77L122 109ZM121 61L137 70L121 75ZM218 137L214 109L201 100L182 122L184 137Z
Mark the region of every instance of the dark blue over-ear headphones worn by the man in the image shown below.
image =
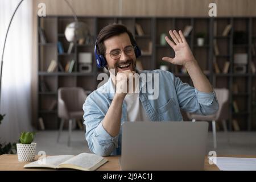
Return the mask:
M137 43L134 42L133 44L135 56L139 57L141 56L141 49L137 46ZM106 66L106 59L103 55L98 55L98 45L97 45L97 39L94 46L94 55L96 58L96 64L98 68L104 68Z

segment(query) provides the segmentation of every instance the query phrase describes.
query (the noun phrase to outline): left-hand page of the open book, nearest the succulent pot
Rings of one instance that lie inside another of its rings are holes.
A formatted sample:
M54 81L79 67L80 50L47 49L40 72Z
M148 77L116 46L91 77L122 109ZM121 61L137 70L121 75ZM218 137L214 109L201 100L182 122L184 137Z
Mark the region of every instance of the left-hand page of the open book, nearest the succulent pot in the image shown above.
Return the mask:
M47 156L46 162L43 163L42 160L36 160L35 162L26 164L24 168L28 167L51 167L56 168L59 164L63 163L64 161L73 158L73 155L56 155L56 156Z

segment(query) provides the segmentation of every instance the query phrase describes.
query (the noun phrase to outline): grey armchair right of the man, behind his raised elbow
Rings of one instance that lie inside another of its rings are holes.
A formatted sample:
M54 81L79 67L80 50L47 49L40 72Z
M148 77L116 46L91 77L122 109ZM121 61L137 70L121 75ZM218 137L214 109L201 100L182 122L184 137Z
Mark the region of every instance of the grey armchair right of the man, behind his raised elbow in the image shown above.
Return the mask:
M213 133L213 146L217 148L217 139L216 139L216 121L221 121L224 131L228 137L228 130L226 128L226 119L229 118L229 90L222 89L214 89L216 93L216 97L219 104L219 109L217 113L211 115L199 115L199 114L190 114L187 113L187 117L192 119L192 121L211 121L212 122L212 133Z

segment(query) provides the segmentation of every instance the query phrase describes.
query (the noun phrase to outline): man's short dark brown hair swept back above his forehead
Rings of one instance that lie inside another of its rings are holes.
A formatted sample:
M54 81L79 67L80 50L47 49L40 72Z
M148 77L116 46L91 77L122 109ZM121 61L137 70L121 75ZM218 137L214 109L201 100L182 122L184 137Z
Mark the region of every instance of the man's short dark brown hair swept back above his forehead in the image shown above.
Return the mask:
M98 33L98 37L97 37L98 54L105 55L106 47L104 46L104 40L111 38L112 36L120 35L123 33L127 33L129 35L131 44L135 46L136 42L133 38L133 34L131 34L131 32L126 28L126 26L122 24L109 24L108 26L102 28L100 33Z

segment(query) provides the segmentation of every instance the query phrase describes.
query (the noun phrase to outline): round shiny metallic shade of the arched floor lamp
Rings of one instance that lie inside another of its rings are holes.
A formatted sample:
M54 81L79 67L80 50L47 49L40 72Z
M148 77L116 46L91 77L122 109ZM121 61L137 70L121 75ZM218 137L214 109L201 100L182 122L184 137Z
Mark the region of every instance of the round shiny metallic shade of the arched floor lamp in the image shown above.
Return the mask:
M68 42L75 42L88 35L88 27L84 22L72 22L65 28L64 34Z

